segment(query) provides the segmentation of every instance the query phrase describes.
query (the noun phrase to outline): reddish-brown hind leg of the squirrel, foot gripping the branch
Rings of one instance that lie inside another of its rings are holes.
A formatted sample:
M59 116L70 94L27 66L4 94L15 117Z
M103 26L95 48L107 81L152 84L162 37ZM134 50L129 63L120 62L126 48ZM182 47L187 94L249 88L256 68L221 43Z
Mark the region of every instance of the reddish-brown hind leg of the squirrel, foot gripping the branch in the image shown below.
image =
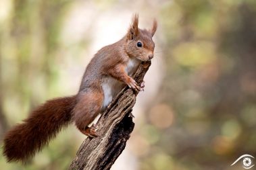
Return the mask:
M101 91L83 93L78 97L78 103L76 103L73 110L73 120L82 134L92 138L99 136L95 125L91 127L88 127L88 125L101 112L102 105L103 93Z

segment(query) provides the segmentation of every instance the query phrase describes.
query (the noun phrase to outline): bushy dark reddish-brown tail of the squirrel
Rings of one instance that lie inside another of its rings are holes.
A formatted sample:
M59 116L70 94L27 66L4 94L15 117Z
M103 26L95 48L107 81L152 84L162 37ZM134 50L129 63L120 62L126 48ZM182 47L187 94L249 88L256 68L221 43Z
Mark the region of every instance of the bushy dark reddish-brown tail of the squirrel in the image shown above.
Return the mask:
M40 151L71 120L76 96L52 99L36 108L22 124L5 134L3 155L7 161L25 162Z

